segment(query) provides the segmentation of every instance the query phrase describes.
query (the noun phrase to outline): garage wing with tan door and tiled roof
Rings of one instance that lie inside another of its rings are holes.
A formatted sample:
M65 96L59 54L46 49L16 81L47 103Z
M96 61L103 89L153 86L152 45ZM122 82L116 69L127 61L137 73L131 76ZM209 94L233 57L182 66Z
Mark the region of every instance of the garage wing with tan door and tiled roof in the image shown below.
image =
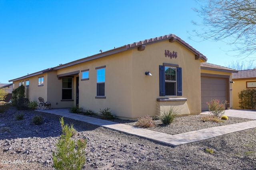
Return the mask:
M210 63L201 63L201 107L208 110L206 102L218 99L228 101L226 108L232 108L232 74L237 70Z

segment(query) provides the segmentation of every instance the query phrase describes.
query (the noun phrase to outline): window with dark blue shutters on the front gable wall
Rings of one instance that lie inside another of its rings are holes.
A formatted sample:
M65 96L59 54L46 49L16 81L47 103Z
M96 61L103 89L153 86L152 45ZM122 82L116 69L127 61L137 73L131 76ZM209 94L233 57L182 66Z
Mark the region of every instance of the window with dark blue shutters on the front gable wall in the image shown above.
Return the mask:
M166 65L159 66L160 96L182 96L182 69L175 64Z

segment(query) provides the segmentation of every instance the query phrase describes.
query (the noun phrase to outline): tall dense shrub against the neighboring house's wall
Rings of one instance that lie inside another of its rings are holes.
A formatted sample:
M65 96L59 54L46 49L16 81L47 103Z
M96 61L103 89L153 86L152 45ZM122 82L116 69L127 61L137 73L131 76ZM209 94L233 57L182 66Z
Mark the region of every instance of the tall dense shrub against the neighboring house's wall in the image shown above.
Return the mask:
M256 89L247 88L238 93L241 109L256 109Z

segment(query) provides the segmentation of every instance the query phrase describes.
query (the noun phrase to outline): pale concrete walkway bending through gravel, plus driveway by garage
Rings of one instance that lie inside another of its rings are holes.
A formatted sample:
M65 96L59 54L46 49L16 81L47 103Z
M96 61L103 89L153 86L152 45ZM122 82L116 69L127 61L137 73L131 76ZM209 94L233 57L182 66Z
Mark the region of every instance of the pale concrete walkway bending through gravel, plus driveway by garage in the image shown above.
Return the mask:
M131 135L136 135L138 137L143 137L146 139L157 141L159 143L164 143L166 145L170 145L173 147L186 144L186 143L202 141L205 139L217 137L220 135L225 135L228 133L256 128L256 111L244 111L244 110L233 110L233 109L226 110L225 115L230 117L241 117L241 118L255 119L255 120L243 122L243 123L237 123L233 125L226 125L226 126L202 129L198 131L191 131L187 133L181 133L178 135L168 135L165 133L160 133L160 132L150 131L147 129L124 125L121 123L115 123L113 121L107 121L103 119L97 119L94 117L69 113L68 109L49 109L49 110L37 110L37 111L52 113L52 114L68 117L71 119L84 121L86 123L107 127L110 129L131 134ZM202 114L208 114L208 112L203 112Z

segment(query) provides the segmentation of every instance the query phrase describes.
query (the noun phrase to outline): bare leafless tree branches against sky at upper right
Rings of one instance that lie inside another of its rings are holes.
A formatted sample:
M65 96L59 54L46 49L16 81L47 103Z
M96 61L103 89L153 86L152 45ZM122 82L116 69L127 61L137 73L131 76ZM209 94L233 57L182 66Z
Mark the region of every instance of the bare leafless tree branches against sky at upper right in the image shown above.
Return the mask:
M256 52L256 0L195 0L194 9L202 18L202 31L194 30L203 40L224 41L235 45L241 56Z

